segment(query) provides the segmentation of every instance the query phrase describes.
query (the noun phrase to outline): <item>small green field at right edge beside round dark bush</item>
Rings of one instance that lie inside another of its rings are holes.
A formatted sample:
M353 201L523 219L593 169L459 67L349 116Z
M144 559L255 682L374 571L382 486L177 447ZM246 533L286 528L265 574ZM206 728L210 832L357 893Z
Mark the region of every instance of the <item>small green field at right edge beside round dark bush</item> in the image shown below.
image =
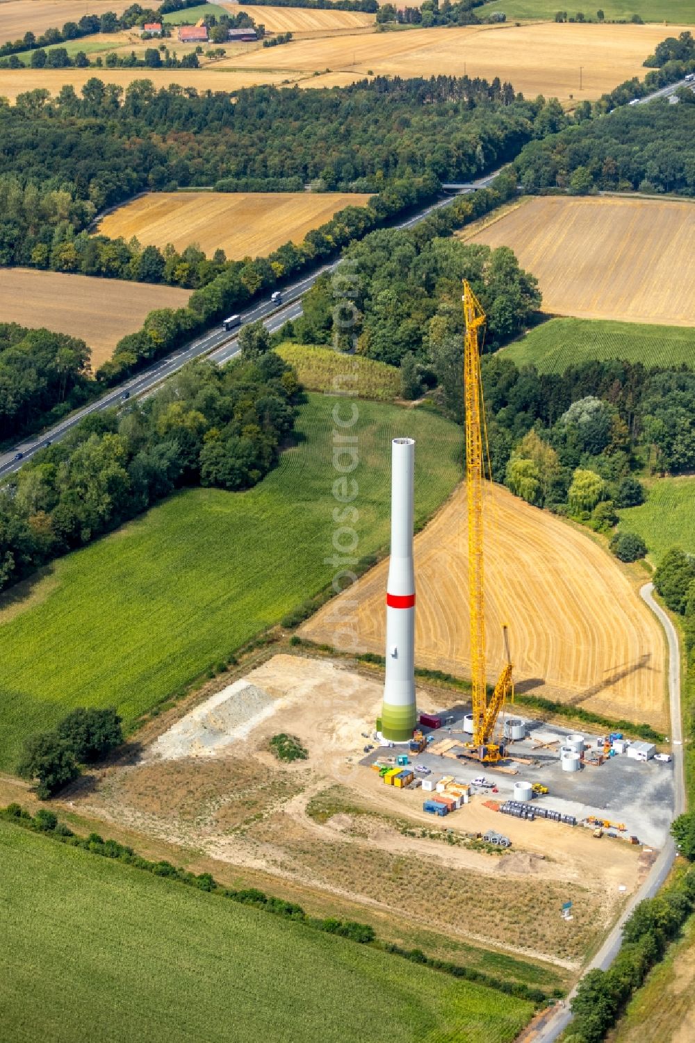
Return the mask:
M660 478L641 507L619 511L620 528L637 532L658 562L670 547L695 554L695 478Z

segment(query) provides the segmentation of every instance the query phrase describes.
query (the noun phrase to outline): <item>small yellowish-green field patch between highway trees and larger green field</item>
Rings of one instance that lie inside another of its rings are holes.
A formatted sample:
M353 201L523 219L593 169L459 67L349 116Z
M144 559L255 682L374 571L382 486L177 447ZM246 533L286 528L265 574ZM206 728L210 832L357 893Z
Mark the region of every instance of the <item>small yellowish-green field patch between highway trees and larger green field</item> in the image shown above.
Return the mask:
M309 391L342 389L361 398L384 402L392 401L401 393L399 370L375 359L362 355L340 355L330 347L292 344L289 341L277 350L294 366L297 377Z

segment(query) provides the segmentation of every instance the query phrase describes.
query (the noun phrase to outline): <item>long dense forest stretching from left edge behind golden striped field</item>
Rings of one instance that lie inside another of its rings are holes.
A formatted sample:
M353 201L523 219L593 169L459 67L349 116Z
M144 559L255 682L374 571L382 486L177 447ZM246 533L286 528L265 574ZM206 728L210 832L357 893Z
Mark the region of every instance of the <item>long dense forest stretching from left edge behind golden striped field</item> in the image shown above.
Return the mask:
M79 95L34 90L0 107L0 174L66 188L96 211L143 189L222 178L301 177L379 191L396 178L468 179L513 159L568 120L557 103L469 77L376 77L339 91L257 87L225 93L98 78ZM94 212L89 216L91 219ZM75 231L80 231L79 225Z

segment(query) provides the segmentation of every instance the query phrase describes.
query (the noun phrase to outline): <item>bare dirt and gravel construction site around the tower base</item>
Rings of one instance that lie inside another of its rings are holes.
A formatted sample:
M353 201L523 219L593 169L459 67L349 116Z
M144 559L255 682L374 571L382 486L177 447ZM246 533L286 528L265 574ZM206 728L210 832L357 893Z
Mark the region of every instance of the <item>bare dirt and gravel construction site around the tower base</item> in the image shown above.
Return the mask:
M656 857L671 800L670 766L614 757L565 778L551 750L532 749L537 728L531 723L530 737L513 750L538 763L514 765L518 775L432 752L410 759L429 767L432 777L484 774L500 801L511 796L514 781L537 779L550 791L538 804L577 817L620 818L641 844L597 840L590 829L541 818L510 818L486 806L493 794L485 787L473 787L470 803L434 819L423 810L429 795L422 785L397 790L369 767L378 756L403 752L382 748L365 756L382 694L378 676L349 661L274 655L208 693L183 717L181 708L162 714L151 726L158 734L141 736L133 762L73 787L73 806L261 873L266 881L270 875L279 890L291 887L303 901L323 894L350 903L353 915L372 911L412 926L426 901L429 928L452 940L579 967ZM444 690L417 694L418 709L454 719L432 745L463 738L448 728L459 727L466 707L453 693L449 707L446 701ZM275 759L269 741L281 732L296 736L306 759ZM482 843L489 829L511 846L501 851ZM484 882L490 876L492 889ZM483 896L474 905L466 901L473 889ZM560 915L568 901L571 923Z

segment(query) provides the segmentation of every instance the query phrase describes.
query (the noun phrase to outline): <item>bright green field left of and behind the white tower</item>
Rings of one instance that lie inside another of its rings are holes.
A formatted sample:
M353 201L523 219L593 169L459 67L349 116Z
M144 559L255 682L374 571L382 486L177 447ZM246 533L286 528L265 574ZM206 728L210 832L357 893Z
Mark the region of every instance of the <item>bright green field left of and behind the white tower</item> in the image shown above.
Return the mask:
M24 737L74 706L117 705L126 722L224 659L322 589L337 568L333 409L312 395L305 439L243 493L181 492L54 563L0 600L0 769ZM388 543L390 439L416 439L415 516L429 517L461 474L461 432L424 410L357 402L355 556ZM342 537L343 541L345 537Z

